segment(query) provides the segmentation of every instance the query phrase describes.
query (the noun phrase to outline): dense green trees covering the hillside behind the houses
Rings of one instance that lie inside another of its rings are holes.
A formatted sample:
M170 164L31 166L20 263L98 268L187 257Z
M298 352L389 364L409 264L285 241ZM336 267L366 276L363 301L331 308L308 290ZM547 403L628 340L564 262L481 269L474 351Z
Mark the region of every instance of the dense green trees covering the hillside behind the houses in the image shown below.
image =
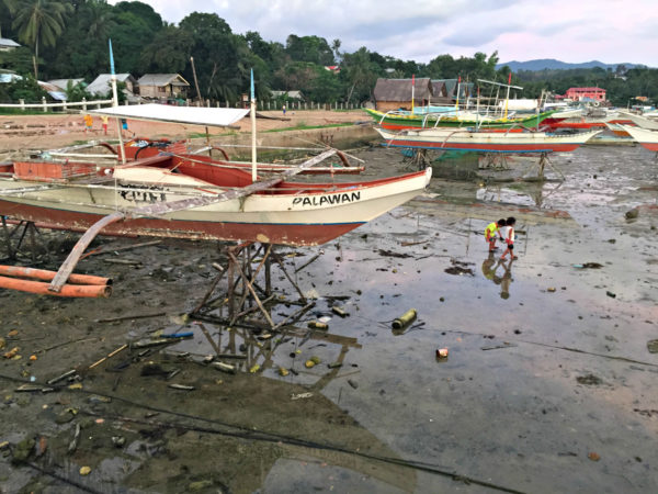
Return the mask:
M330 43L319 36L290 34L285 45L268 42L258 32L235 34L217 14L193 12L178 25L162 22L152 7L140 1L106 0L0 0L0 35L25 46L0 53L0 68L26 75L33 72L33 56L41 64L42 79L79 78L91 82L109 72L107 40L114 47L117 72L139 78L144 74L181 74L191 85L194 58L203 98L235 103L249 92L250 69L256 77L259 100L270 99L270 89L299 90L317 102L361 103L379 77L456 79L477 83L477 79L507 82L509 67L496 69L498 53L475 53L473 57L439 55L429 64L401 60L362 47L354 53L341 50L341 41ZM41 57L41 58L39 58ZM340 74L324 67L340 63ZM648 68L627 70L574 69L520 71L512 83L524 88L518 96L538 98L543 91L564 94L570 87L598 86L609 99L626 105L637 97L658 100L658 71ZM0 98L12 99L30 92L4 87ZM34 90L34 88L32 88ZM23 91L23 92L21 92ZM71 99L81 99L82 89L71 88ZM41 93L39 93L41 94ZM41 99L31 94L31 100ZM192 88L191 97L196 97ZM87 97L86 97L87 98ZM120 90L120 99L124 94Z

